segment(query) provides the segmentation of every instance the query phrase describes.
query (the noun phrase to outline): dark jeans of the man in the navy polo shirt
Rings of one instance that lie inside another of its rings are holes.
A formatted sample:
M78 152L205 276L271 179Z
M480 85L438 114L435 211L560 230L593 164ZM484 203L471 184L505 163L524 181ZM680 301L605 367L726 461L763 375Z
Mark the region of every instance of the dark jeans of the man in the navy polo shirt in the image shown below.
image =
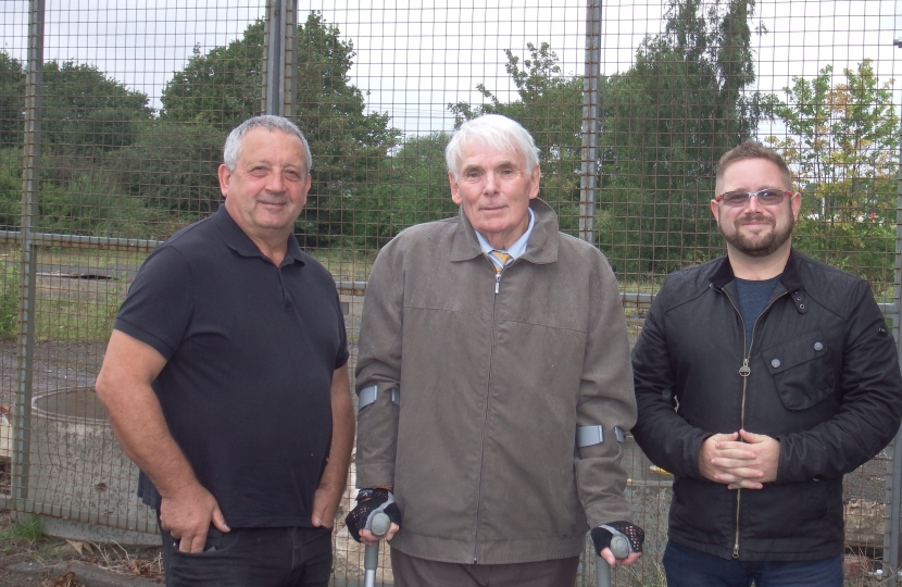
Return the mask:
M326 528L210 528L203 552L185 554L163 536L167 587L326 587L331 530Z

